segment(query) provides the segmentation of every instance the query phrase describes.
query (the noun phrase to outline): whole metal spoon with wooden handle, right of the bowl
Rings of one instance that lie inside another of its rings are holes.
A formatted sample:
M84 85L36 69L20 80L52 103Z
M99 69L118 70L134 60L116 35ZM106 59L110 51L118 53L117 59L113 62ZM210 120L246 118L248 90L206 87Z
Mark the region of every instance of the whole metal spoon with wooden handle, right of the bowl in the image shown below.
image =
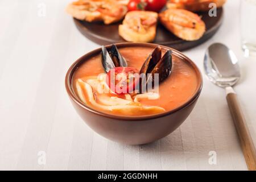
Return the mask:
M214 43L206 51L204 70L209 80L226 89L226 100L240 137L243 155L249 170L256 170L256 150L246 125L245 117L232 88L240 79L240 67L234 52L224 44Z

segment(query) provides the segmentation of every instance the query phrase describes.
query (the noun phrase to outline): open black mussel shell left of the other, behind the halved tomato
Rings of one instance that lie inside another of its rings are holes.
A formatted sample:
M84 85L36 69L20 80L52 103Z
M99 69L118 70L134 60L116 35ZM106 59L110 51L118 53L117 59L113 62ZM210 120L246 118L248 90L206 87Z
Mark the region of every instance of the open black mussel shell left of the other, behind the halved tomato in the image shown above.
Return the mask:
M114 44L109 51L105 46L101 47L101 58L102 66L107 73L115 67L127 67L125 58L119 53L117 46Z

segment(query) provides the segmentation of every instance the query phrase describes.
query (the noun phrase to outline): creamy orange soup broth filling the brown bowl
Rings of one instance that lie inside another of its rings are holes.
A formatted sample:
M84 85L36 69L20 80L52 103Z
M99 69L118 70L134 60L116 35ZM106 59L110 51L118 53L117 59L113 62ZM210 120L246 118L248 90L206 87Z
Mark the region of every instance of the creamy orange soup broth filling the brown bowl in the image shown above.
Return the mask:
M134 67L140 70L147 56L152 51L152 48L126 47L119 48L118 50L121 55L125 57L128 67ZM170 111L185 104L185 102L195 94L199 84L199 78L196 75L196 71L192 68L192 65L176 56L172 56L172 61L171 75L159 85L160 98L156 100L141 100L141 104L147 106L159 106L163 107L166 111ZM101 55L86 60L73 75L73 89L75 92L75 83L79 78L83 80L85 77L98 76L100 73L104 73L104 68L101 64ZM121 95L119 97L122 98ZM98 110L92 105L89 107ZM113 111L103 112L120 115L118 112ZM139 115L145 114L141 113Z

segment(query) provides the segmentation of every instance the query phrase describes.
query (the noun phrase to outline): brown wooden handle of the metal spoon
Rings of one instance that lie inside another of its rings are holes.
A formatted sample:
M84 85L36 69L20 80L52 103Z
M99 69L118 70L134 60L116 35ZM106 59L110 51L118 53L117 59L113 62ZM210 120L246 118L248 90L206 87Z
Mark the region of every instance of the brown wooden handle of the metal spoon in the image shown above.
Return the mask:
M232 115L237 133L240 138L243 155L245 156L247 168L250 171L256 171L256 151L251 139L250 132L247 128L245 117L237 100L237 94L231 87L226 88L229 110Z

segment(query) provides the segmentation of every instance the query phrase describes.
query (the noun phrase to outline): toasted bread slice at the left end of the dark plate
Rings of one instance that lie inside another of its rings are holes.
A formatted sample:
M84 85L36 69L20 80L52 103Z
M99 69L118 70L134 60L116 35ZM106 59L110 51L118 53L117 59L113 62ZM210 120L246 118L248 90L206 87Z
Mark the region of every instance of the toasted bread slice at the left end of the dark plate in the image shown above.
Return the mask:
M79 0L69 4L66 11L74 18L86 22L103 21L110 24L121 20L127 7L115 0Z

